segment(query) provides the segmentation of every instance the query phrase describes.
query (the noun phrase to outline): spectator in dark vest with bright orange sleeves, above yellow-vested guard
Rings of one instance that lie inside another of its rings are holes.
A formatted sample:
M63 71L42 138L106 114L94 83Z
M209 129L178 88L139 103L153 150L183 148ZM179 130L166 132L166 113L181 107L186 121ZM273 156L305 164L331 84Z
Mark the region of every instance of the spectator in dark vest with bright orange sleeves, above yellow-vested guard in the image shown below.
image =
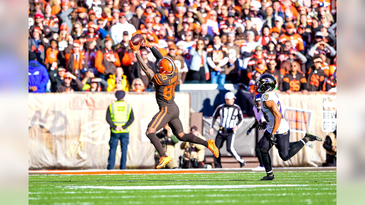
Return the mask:
M115 74L120 60L118 54L112 50L111 38L105 38L104 45L105 48L96 53L95 67L99 71L99 77L105 80L110 74Z

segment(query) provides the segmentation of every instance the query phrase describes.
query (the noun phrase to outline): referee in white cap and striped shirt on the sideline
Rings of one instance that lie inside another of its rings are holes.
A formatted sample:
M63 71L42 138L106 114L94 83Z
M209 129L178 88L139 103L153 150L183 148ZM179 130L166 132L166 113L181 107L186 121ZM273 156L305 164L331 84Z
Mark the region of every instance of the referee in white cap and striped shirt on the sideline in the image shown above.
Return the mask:
M220 129L215 138L215 144L220 149L223 146L223 142L227 140L227 151L240 163L241 167L246 165L245 160L241 159L237 151L233 147L234 138L237 129L242 125L242 111L241 108L234 104L236 97L233 92L228 92L224 95L225 104L219 105L214 113L213 120L210 124L209 134L212 135L214 132L213 125L217 117L220 117ZM215 168L222 168L220 164L220 156L214 158Z

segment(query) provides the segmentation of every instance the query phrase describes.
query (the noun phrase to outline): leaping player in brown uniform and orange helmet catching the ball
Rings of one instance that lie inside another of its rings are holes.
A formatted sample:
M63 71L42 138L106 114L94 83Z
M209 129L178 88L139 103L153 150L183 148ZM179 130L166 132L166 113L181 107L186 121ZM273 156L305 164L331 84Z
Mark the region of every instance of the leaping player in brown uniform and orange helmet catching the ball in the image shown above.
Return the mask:
M215 157L218 157L219 150L215 145L215 140L210 139L205 141L193 134L184 133L183 124L179 118L179 108L174 102L178 73L177 67L171 58L163 58L161 53L155 49L155 47L153 47L146 38L144 38L144 41L145 42L142 46L149 48L156 58L156 70L158 73L154 73L153 70L149 69L139 54L139 47L141 46L141 43L138 43L138 45L135 46L130 41L129 46L135 54L143 72L146 73L146 76L155 85L156 101L160 108L160 112L156 113L150 124L148 124L146 135L148 139L151 140L153 146L156 148L161 157L156 169L161 169L171 161L171 158L166 155L164 148L162 148L160 139L156 136L156 131L164 127L165 124L169 124L173 134L178 140L194 144L202 144L213 152Z

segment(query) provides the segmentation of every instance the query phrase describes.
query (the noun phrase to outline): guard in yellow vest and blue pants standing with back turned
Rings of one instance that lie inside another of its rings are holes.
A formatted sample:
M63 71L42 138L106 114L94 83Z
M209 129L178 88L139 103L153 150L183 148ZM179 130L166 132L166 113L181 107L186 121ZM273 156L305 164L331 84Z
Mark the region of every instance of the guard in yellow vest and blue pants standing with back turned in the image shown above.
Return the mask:
M120 169L126 169L127 146L129 143L129 125L134 120L132 106L124 102L126 93L123 90L115 92L117 100L109 105L107 109L107 122L110 125L110 150L107 169L114 169L115 152L120 140L122 148L122 158L120 159Z

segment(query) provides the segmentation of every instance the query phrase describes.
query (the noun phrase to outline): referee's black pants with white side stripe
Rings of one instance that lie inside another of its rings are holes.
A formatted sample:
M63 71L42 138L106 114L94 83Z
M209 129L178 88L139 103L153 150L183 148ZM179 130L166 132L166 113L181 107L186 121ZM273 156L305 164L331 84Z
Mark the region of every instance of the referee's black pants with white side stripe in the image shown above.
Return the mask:
M232 131L231 129L228 129L226 131L224 130L224 128L220 129L218 131L218 135L215 138L215 145L218 147L218 149L220 149L220 148L222 148L224 141L227 141L227 151L229 153L231 153L231 155L239 163L243 163L243 162L245 162L245 160L241 159L241 157L238 155L237 151L233 147L234 138L235 138L235 132ZM218 158L214 157L215 168L222 168L222 165L220 164L220 156L221 155L219 155Z

